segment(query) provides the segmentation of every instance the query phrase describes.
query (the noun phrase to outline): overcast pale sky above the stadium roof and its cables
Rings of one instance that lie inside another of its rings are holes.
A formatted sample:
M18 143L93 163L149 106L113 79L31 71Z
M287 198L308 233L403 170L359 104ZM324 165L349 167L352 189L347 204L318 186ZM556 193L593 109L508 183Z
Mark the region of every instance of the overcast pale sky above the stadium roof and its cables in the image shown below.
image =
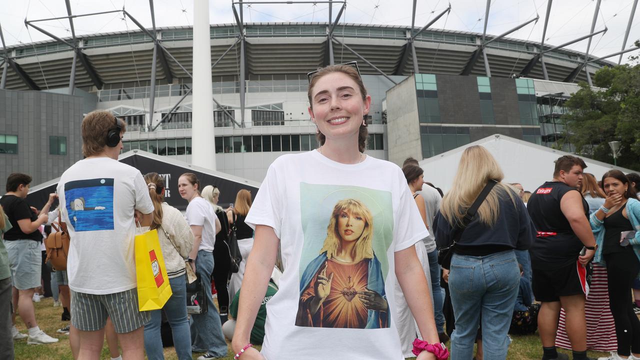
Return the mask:
M260 0L256 0L260 1ZM264 1L264 0L262 0ZM296 0L293 0L294 2ZM143 26L151 27L150 6L145 0L71 0L74 15L122 9L138 19ZM211 24L235 22L231 0L211 0ZM605 56L621 50L633 0L602 0L595 31L609 28L605 35L596 35L589 53ZM7 45L47 40L48 37L33 28L24 26L24 19L38 20L67 15L64 0L0 0L0 26ZM448 6L447 0L418 0L415 26L423 26ZM442 17L432 28L474 31L482 33L485 0L451 0L452 11ZM546 44L559 45L582 35L587 35L595 11L596 1L556 0L548 20ZM627 48L640 38L640 6L632 23ZM333 5L333 16L340 4ZM193 24L193 0L154 0L156 26L191 26ZM512 38L540 42L544 26L547 1L544 0L492 0L487 33L499 35L508 29L540 14L540 21L529 24L509 35ZM358 24L411 24L411 0L348 0L340 22ZM76 33L92 34L108 31L137 29L131 20L124 21L120 13L93 15L74 19ZM328 4L253 4L244 5L245 22L301 22L328 20ZM56 36L70 36L68 21L49 20L39 25ZM588 40L570 45L570 49L586 51ZM638 54L634 51L631 54ZM628 54L623 62L628 62ZM609 58L618 61L618 57Z

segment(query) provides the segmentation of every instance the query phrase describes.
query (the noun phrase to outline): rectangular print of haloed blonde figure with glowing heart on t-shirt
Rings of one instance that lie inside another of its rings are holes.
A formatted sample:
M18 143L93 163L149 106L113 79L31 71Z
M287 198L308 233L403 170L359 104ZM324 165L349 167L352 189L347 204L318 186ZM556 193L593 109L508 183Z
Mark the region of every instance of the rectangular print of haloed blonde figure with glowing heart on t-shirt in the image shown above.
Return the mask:
M390 193L303 183L300 202L305 243L296 325L389 327Z

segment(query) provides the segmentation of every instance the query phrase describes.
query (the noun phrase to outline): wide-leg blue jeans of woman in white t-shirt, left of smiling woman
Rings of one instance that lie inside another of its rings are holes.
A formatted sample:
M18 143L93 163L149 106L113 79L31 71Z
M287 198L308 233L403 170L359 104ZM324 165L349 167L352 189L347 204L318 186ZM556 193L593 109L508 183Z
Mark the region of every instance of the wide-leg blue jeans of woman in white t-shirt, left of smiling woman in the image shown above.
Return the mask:
M205 250L198 251L196 258L196 272L200 274L203 290L207 297L208 311L206 314L193 314L191 318L191 350L193 352L208 352L215 357L227 356L227 341L222 334L222 324L218 309L211 299L211 274L213 272L213 253ZM185 300L186 304L186 300Z

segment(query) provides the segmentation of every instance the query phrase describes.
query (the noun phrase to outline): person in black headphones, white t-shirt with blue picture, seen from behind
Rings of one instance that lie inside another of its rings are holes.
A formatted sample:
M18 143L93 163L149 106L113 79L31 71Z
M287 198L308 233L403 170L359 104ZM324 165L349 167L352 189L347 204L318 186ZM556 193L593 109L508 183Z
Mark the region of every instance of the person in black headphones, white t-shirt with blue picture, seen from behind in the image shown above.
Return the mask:
M83 160L60 177L62 221L72 239L67 259L71 324L78 330L80 359L97 359L111 318L124 359L144 358L148 312L138 311L134 238L149 226L154 204L134 167L118 162L126 124L109 111L82 122Z

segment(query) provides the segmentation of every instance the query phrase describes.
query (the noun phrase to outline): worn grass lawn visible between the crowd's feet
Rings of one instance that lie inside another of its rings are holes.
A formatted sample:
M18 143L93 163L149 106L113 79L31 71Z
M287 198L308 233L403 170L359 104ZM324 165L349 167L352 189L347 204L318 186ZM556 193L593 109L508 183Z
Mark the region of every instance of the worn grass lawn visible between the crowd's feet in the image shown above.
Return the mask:
M40 328L49 334L49 336L59 338L60 341L49 345L27 345L26 338L24 340L15 341L15 358L17 360L73 360L73 357L71 356L71 348L69 347L68 336L56 333L57 329L67 325L66 322L60 321L62 308L53 307L53 300L50 297L42 299L40 302L35 302L34 304L36 308L36 319L38 320ZM17 318L17 327L20 332L26 332L26 328L19 317ZM571 358L570 351L561 349L559 349L559 351L568 354ZM193 359L197 359L200 355L202 354L194 354ZM229 348L229 355L224 359L231 360L234 357L233 355L234 354L232 354L231 349ZM589 357L598 358L601 356L609 356L609 354L602 352L589 352ZM164 357L166 360L177 359L173 348L164 348ZM513 343L511 343L511 346L509 347L508 359L539 360L541 357L542 348L540 347L540 339L538 336L513 337ZM104 348L102 349L101 358L107 360L110 358L106 341L104 343Z

